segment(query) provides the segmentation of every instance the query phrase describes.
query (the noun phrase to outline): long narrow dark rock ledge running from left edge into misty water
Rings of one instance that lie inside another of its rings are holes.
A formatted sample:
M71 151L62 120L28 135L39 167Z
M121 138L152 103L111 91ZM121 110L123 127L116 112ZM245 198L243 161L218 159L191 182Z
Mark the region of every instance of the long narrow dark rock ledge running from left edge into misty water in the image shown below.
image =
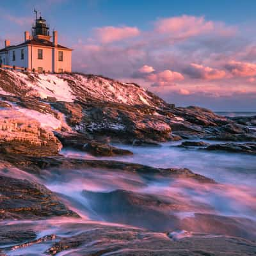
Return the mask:
M163 177L173 177L177 179L193 179L202 183L216 183L214 180L204 177L203 175L193 173L187 168L154 168L143 164L125 163L110 160L84 160L69 157L28 157L17 155L0 154L0 159L7 161L13 166L27 172L40 173L42 169L47 170L72 170L86 168L102 168L113 172L138 173L143 177L154 177L160 175Z

